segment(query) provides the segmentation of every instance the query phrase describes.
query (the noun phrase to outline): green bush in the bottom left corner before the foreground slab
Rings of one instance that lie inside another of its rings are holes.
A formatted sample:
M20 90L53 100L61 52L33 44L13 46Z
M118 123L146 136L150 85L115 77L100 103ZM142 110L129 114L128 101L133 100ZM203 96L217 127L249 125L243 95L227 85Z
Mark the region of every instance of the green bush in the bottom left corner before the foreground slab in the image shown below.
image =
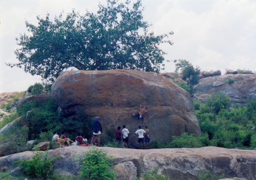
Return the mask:
M53 177L53 164L56 159L58 158L49 158L48 151L45 154L37 151L33 158L21 160L17 163L27 176L38 179L49 179Z

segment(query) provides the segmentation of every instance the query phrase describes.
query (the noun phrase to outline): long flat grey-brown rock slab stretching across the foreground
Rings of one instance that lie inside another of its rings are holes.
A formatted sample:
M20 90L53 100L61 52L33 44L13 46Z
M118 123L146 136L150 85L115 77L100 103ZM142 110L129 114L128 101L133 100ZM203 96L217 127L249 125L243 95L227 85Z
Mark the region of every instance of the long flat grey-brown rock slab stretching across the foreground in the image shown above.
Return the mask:
M61 176L77 175L79 164L77 155L88 151L88 147L64 147L50 150L50 157L56 160L54 172ZM224 174L225 178L240 177L256 180L256 150L234 150L219 147L135 150L100 147L113 157L117 176L131 179L145 171L159 168L173 180L198 180L197 174L209 171L214 176ZM33 157L32 151L12 154L0 158L0 167L15 169L15 161ZM122 171L122 169L125 169ZM128 176L130 174L130 176ZM121 179L122 180L122 179Z

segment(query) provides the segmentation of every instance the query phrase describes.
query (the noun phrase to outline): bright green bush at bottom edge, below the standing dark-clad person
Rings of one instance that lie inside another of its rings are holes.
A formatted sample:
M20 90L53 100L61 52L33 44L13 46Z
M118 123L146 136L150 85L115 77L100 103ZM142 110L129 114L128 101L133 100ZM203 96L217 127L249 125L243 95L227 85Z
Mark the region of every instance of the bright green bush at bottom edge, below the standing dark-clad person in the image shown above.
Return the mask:
M79 177L83 180L114 180L113 160L96 147L90 148L79 158Z

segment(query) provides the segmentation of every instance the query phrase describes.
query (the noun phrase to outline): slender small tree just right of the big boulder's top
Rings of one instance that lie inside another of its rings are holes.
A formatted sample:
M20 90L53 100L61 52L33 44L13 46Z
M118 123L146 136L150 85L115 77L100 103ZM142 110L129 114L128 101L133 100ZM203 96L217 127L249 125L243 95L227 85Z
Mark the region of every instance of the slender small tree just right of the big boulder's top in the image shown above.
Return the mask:
M182 79L189 85L191 97L194 96L194 86L199 83L200 69L194 66L185 59L174 60L176 72L182 75Z

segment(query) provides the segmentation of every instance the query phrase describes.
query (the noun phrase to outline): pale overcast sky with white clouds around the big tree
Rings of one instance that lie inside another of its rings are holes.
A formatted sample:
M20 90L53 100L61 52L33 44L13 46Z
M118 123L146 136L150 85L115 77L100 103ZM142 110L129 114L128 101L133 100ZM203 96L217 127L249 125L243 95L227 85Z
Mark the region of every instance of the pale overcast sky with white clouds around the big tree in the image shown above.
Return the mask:
M98 0L0 0L0 93L24 91L41 82L4 62L18 62L15 38L26 32L25 20L54 17L72 8L81 14L96 12ZM102 4L105 0L100 0ZM134 2L134 0L132 0ZM156 34L173 31L173 46L162 45L166 59L187 59L202 70L250 69L256 71L255 0L142 0L144 19ZM165 72L174 71L173 62Z

